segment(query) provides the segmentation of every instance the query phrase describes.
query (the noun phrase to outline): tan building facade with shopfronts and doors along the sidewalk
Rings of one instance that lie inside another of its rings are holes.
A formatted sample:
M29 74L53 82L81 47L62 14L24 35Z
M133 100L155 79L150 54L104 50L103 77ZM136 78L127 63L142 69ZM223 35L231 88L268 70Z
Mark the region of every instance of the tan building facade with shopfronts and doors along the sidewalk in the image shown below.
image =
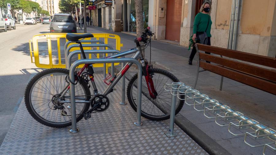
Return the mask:
M143 0L144 26L151 27L155 40L187 47L205 1L212 7L212 46L276 57L276 0ZM113 31L136 33L135 0L113 0L106 9L104 1L96 3L93 25L106 28L111 9Z

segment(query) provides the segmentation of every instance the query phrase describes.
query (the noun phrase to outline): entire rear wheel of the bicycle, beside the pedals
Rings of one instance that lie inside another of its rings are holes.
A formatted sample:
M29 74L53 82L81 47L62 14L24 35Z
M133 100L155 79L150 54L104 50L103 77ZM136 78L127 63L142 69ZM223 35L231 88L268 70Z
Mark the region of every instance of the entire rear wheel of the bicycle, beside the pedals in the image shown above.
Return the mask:
M56 128L71 125L71 103L59 102L71 100L70 89L67 89L68 83L65 80L67 76L69 77L69 70L53 68L36 74L28 83L25 90L25 105L31 116L39 123ZM66 93L61 96L63 92ZM90 100L87 84L78 81L75 85L75 95L78 122L90 106L77 103L79 100Z

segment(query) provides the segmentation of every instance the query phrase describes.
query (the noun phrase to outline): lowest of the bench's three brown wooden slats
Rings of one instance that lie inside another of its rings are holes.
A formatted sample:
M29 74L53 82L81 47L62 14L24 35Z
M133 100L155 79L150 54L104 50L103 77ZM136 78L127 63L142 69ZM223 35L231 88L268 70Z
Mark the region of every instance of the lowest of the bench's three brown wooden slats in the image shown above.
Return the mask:
M232 80L239 81L243 84L246 84L254 88L276 95L276 84L273 82L266 81L260 78L256 78L247 74L237 72L235 70L227 69L222 66L213 65L202 61L200 61L199 64L200 64L200 67L205 70L209 70L213 73L222 75Z

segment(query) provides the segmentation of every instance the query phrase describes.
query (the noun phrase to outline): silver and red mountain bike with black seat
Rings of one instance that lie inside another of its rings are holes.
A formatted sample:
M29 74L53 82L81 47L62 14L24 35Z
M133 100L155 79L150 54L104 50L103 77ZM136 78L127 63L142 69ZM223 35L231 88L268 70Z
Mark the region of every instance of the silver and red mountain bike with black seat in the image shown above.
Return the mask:
M171 94L164 90L165 83L178 82L179 80L166 70L152 68L142 54L148 44L151 44L151 36L154 33L146 28L143 35L136 38L136 48L130 49L116 55L104 57L118 58L134 54L132 58L140 59L143 70L142 80L142 103L141 115L144 118L160 121L170 118ZM148 38L150 36L150 38ZM78 43L83 59L86 55L82 48L81 41L93 37L92 34L71 34L66 35L67 40ZM142 42L142 45L140 45ZM52 68L36 74L28 83L25 89L25 105L30 115L39 123L49 127L67 127L71 125L70 87L69 82L75 85L76 121L83 117L89 119L91 113L103 112L110 104L107 95L113 92L113 87L126 73L132 63L127 63L123 69L107 82L109 86L100 94L94 81L93 64L85 64L78 72L75 70L75 79L69 79L69 70ZM86 71L84 71L86 70ZM110 77L110 76L109 76ZM127 86L128 102L136 111L137 97L137 73L130 79ZM91 95L90 83L94 92ZM42 91L42 92L41 92ZM184 95L183 95L184 96ZM183 100L177 100L175 114L183 106Z

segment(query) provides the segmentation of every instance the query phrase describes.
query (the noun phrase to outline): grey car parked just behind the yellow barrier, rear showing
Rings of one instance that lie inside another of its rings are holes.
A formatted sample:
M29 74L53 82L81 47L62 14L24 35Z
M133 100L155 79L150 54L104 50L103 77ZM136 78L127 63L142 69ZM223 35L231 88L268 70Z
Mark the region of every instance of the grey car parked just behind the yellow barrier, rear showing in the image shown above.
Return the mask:
M50 22L50 32L77 32L77 25L71 14L57 13Z

